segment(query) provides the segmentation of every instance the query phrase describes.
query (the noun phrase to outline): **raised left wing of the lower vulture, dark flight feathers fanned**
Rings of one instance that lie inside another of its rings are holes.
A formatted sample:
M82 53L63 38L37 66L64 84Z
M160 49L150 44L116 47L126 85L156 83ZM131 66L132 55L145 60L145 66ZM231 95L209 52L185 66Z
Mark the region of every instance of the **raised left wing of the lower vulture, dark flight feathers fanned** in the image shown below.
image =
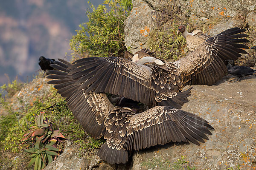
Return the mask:
M76 81L79 79L72 79L72 75L69 75L69 69L71 64L62 59L61 62L55 62L52 65L54 68L58 68L60 71L49 71L50 75L47 78L52 78L48 84L54 84L55 88L61 96L67 100L67 106L72 111L73 115L84 127L84 130L92 135L94 138L99 139L105 134L105 117L113 111L114 106L109 101L106 94L93 91L84 93L85 90L79 89L80 85L76 85Z

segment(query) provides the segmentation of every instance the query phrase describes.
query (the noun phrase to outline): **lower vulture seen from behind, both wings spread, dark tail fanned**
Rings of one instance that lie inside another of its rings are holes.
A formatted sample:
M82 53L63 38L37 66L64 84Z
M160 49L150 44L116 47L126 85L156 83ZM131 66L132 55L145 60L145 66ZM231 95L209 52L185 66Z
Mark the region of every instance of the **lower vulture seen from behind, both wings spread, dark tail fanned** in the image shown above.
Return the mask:
M96 139L106 139L97 155L110 164L125 163L133 150L157 144L191 141L200 145L199 142L204 143L207 135L212 134L209 130L214 130L201 117L178 109L178 105L172 106L174 102L186 102L191 88L183 92L169 92L172 105L153 105L136 113L131 108L112 105L105 93L96 93L96 88L88 91L93 84L84 88L84 82L79 82L86 77L80 74L83 65L58 60L51 66L59 71L49 71L52 75L47 78L54 80L48 83L55 84L58 93L66 98L67 106L87 133ZM118 82L112 82L111 87L115 86L113 83Z

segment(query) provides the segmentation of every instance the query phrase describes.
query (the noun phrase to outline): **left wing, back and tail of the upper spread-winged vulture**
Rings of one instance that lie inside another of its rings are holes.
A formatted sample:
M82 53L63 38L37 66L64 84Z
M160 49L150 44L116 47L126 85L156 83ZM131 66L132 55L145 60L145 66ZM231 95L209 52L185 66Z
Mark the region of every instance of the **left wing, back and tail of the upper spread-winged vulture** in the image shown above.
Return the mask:
M170 81L182 85L176 70L166 72L157 65L140 65L119 57L89 57L75 61L68 69L84 93L105 92L149 106L164 102L177 108L189 96L190 89L180 93L170 90Z

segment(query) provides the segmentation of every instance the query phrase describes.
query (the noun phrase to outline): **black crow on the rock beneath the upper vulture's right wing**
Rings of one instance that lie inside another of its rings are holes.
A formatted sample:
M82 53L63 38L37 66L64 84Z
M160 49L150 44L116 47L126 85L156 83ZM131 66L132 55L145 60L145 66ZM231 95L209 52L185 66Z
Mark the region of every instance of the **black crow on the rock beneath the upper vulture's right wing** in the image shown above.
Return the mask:
M228 62L227 71L229 72L229 74L238 77L236 81L239 81L241 77L249 76L256 73L256 70L250 67L235 65L235 62L233 59L227 59L226 61Z

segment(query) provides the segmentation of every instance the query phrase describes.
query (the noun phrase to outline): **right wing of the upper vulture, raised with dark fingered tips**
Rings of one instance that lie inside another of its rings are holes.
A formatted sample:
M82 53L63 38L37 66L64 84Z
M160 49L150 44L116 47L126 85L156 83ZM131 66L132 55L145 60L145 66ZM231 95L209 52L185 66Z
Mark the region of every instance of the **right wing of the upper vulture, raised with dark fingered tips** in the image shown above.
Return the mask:
M226 59L236 60L241 54L247 54L242 48L247 45L239 42L249 42L241 37L247 37L244 29L230 28L198 46L195 51L176 62L183 85L212 85L227 73Z

